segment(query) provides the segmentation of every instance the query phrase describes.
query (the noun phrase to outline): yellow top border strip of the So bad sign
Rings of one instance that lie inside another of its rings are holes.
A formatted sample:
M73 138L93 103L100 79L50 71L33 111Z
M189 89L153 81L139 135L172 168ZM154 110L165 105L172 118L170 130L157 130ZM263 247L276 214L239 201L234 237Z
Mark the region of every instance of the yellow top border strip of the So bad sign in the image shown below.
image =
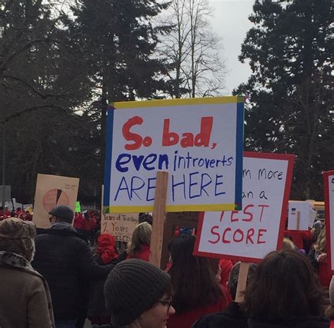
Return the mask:
M186 106L214 103L243 103L243 96L207 97L190 99L159 99L145 101L120 101L110 103L116 109L140 108L140 107L162 107L162 106Z

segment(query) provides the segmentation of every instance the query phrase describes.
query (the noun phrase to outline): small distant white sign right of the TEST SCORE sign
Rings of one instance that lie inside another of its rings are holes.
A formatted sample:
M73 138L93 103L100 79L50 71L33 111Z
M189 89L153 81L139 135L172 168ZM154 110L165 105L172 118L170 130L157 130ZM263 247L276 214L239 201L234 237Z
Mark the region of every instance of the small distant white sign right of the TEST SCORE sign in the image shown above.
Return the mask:
M287 229L308 230L309 227L313 227L315 215L316 212L308 201L289 201Z

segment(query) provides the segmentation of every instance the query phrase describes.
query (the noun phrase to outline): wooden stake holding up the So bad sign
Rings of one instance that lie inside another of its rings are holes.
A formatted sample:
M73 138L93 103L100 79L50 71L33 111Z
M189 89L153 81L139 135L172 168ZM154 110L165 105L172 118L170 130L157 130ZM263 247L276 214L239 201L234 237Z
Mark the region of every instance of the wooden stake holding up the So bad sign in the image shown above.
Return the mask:
M163 225L166 220L168 172L158 171L156 175L156 193L153 207L153 222L151 235L151 255L149 262L160 267L163 241Z

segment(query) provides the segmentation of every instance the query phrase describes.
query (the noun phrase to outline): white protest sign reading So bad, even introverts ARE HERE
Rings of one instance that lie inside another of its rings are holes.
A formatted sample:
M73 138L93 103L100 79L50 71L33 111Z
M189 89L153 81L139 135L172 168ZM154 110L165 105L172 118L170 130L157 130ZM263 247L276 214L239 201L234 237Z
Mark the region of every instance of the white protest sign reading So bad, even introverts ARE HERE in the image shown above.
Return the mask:
M242 201L243 97L127 101L108 111L105 213L234 210Z

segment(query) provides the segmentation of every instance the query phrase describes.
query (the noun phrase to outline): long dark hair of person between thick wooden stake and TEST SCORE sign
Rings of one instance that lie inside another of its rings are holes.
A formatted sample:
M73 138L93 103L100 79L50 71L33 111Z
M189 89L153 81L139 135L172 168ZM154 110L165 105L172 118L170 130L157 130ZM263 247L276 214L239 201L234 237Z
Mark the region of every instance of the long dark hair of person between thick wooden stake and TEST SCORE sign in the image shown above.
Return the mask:
M168 271L173 284L176 314L200 305L216 303L223 296L207 258L193 256L195 237L182 234L168 244L172 266Z

